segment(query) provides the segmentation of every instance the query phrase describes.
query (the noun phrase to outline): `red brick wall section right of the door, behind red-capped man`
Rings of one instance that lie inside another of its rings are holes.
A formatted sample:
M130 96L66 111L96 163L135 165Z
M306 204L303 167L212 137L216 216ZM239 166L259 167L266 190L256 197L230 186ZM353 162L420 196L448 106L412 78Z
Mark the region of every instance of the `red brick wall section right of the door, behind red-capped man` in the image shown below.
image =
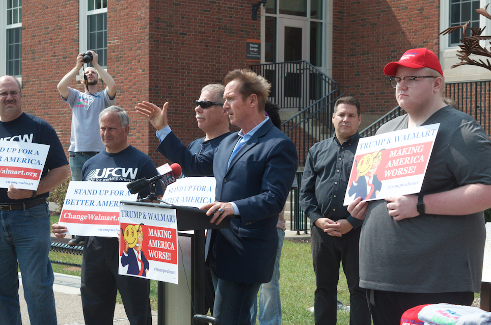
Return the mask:
M438 55L440 1L333 1L332 77L362 114L387 113L397 102L384 66L411 48Z

